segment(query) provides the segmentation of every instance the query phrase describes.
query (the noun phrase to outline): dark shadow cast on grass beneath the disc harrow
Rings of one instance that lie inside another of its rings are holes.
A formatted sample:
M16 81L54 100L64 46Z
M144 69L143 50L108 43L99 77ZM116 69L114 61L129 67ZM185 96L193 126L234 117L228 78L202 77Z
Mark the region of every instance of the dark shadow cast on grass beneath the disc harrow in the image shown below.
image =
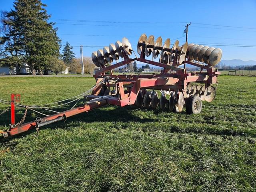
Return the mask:
M228 105L230 106L230 105ZM251 108L252 106L246 106L246 105L232 105L232 107L236 108ZM217 107L218 108L218 107ZM61 108L60 111L68 110L70 109L70 106L67 106L66 108ZM112 106L110 108L107 107L102 107L98 108L95 110L92 110L88 113L82 113L75 115L73 117L68 118L68 122L72 121L72 127L80 126L81 122L85 123L92 123L92 122L139 122L139 123L150 123L150 122L160 122L160 119L156 118L140 118L139 116L134 115L134 112L142 110L143 112L146 111L152 111L154 115L159 115L162 113L162 110L157 109L145 109L145 108L138 108L136 106L126 106L126 107L118 107L118 106ZM23 112L19 112L16 115L16 119L21 119L23 116ZM168 109L164 110L164 112L170 112ZM172 112L170 112L172 113ZM33 114L33 115L32 115ZM186 115L186 112L183 110L181 112L182 115ZM34 121L36 117L34 117L34 113L31 113L31 111L28 112L26 122ZM204 118L205 119L205 118ZM206 119L205 119L206 120ZM211 120L211 119L209 119ZM0 120L0 126L8 126L8 121L10 121L10 112L7 112L6 114L2 115L1 120ZM206 120L206 124L212 124L210 121ZM212 124L214 125L214 124ZM40 128L40 130L44 129L57 129L57 128L62 128L62 129L67 129L69 128L69 123L65 124L64 122L57 122L54 124L47 125L45 127ZM142 131L147 132L148 130L145 128L142 128ZM226 136L248 136L244 134L244 131L241 130L236 130L234 132L231 129L214 129L214 128L206 128L205 130L200 130L196 127L188 126L186 128L181 128L179 126L174 126L174 125L168 125L168 128L165 127L164 132L178 132L178 133L195 133L195 134L216 134L216 135L226 135ZM36 132L36 130L30 130L27 132L24 132L22 134L19 134L17 136L9 137L9 138L0 138L0 144L6 141L10 141L13 138L19 138L22 136L26 136L28 134L31 134L33 132ZM250 136L256 136L255 134L250 134Z

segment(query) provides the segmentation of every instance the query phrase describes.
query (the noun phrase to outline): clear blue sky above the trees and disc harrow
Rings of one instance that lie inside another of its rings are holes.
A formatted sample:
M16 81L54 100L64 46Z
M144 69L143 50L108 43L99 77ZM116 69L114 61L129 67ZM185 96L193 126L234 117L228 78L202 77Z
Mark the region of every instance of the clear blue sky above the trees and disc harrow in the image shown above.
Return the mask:
M0 2L0 10L8 11L14 1ZM256 60L256 48L234 47L256 46L256 0L42 2L48 6L51 21L56 22L62 44L68 41L72 46L99 46L84 47L84 56L123 37L136 45L142 33L152 34L155 39L162 36L163 41L170 38L171 43L180 38L180 43L184 43L184 26L191 22L189 43L228 45L214 46L222 49L222 59ZM136 46L133 49L136 50ZM80 57L79 47L74 47L74 52Z

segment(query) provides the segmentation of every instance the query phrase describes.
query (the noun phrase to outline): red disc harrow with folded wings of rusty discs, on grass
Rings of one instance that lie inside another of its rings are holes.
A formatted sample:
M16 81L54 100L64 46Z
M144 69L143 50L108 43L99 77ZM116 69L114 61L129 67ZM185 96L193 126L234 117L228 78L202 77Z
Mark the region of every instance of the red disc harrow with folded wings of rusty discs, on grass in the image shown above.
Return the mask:
M162 42L164 42L162 44ZM127 38L111 43L92 53L92 62L100 68L94 78L96 85L90 95L84 96L82 106L59 112L44 118L15 125L14 113L10 128L3 136L13 136L22 132L39 129L41 126L66 120L70 116L110 104L117 106L136 105L139 108L167 110L180 113L185 106L187 114L199 114L202 101L212 102L216 96L217 77L214 68L221 60L222 50L198 44L180 45L170 38L162 40L153 35L142 34L133 56L132 46ZM146 57L151 57L147 59ZM115 63L113 64L115 60ZM114 74L112 70L138 61L162 68L160 73ZM199 71L186 70L182 65L190 64ZM107 72L110 71L110 75ZM12 101L12 103L15 103ZM15 107L15 105L12 105Z

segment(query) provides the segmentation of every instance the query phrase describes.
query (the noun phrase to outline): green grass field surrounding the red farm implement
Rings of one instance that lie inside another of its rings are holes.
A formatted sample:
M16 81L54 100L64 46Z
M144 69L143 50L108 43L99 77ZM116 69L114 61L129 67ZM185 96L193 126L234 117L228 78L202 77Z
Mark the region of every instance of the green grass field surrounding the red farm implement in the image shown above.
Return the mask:
M0 98L46 104L94 83L0 78ZM8 124L0 116L0 129ZM216 99L198 115L107 106L39 137L0 138L0 191L256 191L256 77L220 76Z

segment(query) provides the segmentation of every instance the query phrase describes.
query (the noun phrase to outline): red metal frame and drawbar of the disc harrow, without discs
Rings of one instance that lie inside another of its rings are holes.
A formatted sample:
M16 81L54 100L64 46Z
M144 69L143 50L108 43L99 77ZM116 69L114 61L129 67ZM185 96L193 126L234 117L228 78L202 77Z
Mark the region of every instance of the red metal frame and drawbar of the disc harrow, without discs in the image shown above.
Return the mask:
M89 95L86 97L88 100L91 100L91 101L93 101L94 99L97 99L95 102L89 102L83 106L80 106L74 109L70 109L64 112L60 112L58 114L40 118L40 121L35 120L32 122L22 124L20 126L14 126L15 124L15 116L14 116L15 115L15 112L14 112L15 98L14 97L15 96L20 97L20 95L12 94L12 97L11 97L12 126L7 132L4 132L3 136L5 137L14 136L16 134L20 134L28 130L32 130L35 128L38 129L41 126L54 123L60 120L66 120L66 118L68 117L71 117L83 112L88 112L90 110L104 106L106 104L117 105L121 107L126 105L133 105L136 102L136 98L138 96L139 91L143 88L154 89L154 90L173 90L176 93L183 92L185 93L184 94L185 99L187 99L188 96L185 92L187 84L189 84L190 82L198 82L198 83L204 83L206 84L206 86L209 86L210 84L217 83L217 77L218 77L218 74L220 74L220 72L218 72L215 68L211 68L210 66L201 65L191 61L185 61L185 63L191 64L193 66L197 66L201 68L201 71L186 72L186 69L177 67L177 62L178 62L177 54L172 64L164 64L164 63L145 59L145 52L143 48L142 48L142 53L140 55L140 58L130 59L125 52L123 53L124 53L123 61L108 67L103 66L93 76L96 79L96 84L100 82L103 78L118 79L118 82L116 82L115 84L115 89L117 92L116 94L111 94L111 92L109 91L110 95L108 97L99 95L100 90L102 89L102 86L105 86L107 88L110 88L110 86L113 87L113 85L107 81L105 85L99 84L98 86L96 86L92 91L92 95ZM114 75L112 73L110 75L105 74L108 71L112 71L115 68L128 64L135 60L138 60L140 62L144 62L147 64L152 64L154 66L159 66L164 69L160 74L130 74L130 75L119 75L119 74ZM205 69L207 72L203 72L202 71L203 69ZM168 70L175 70L176 72L175 73L168 72ZM127 81L127 78L129 78L129 81ZM125 93L125 88L129 90L128 93Z

